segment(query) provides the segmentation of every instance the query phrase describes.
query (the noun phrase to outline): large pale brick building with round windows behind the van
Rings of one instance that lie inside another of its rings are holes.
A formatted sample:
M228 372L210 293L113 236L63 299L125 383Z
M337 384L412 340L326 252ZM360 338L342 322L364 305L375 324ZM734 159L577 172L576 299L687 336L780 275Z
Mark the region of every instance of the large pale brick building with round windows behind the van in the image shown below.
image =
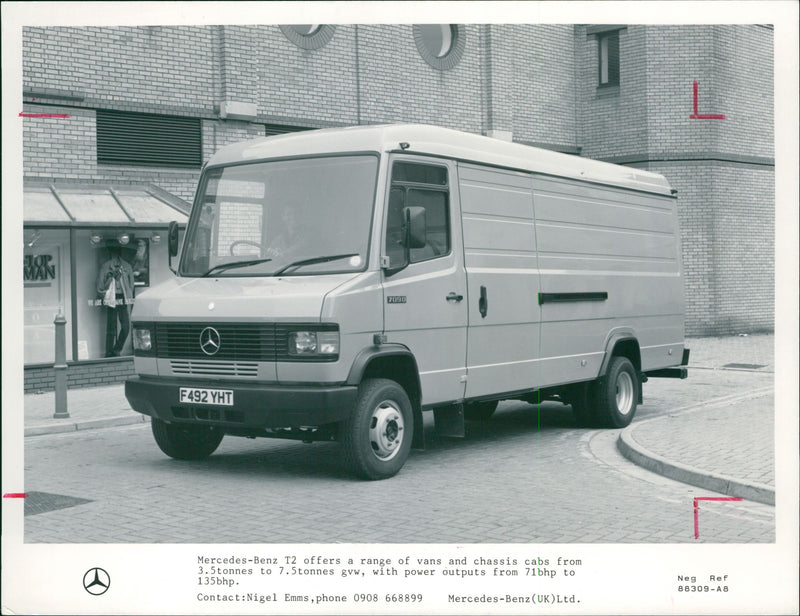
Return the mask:
M151 278L168 275L156 238L170 212L185 220L219 147L387 122L664 174L678 190L687 335L771 330L772 74L773 31L756 25L26 27L26 256L47 244L66 272L58 297L26 286L26 351L36 331L52 340L28 317L55 302L71 322L67 359L102 357L81 278L126 232L152 250ZM47 353L32 351L26 381Z

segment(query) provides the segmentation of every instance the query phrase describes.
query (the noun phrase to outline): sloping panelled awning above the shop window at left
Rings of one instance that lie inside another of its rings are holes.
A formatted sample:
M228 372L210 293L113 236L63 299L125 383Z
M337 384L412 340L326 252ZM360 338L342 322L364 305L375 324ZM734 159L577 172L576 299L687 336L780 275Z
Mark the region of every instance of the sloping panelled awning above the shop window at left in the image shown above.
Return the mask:
M74 184L26 182L25 225L167 226L185 225L191 206L153 184Z

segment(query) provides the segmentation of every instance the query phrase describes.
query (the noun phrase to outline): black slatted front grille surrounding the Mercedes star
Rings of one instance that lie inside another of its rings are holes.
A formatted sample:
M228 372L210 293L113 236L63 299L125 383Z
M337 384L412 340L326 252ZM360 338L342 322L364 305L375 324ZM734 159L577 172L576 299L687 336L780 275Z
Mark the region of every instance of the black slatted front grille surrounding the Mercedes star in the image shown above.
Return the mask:
M219 334L219 349L213 355L203 352L200 334L207 327ZM274 362L277 360L274 323L157 323L157 357L217 362ZM285 350L282 349L282 353ZM200 368L191 362L183 369Z

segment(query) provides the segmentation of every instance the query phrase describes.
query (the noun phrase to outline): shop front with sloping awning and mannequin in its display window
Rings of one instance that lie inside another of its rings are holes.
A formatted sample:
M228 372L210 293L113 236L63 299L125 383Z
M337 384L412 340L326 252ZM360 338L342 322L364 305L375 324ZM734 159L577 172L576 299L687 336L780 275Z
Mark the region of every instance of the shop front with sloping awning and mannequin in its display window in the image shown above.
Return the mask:
M70 386L119 380L132 364L130 310L172 276L167 228L185 228L189 205L152 185L26 182L23 209L25 390L50 388L58 314Z

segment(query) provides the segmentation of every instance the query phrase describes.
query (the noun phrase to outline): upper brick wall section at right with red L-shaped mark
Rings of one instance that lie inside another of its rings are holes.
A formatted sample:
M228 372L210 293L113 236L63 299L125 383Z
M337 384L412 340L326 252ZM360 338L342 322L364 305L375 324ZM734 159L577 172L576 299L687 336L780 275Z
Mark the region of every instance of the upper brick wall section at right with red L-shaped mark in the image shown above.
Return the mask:
M651 159L774 156L772 30L758 26L647 28ZM724 120L698 120L698 111Z

